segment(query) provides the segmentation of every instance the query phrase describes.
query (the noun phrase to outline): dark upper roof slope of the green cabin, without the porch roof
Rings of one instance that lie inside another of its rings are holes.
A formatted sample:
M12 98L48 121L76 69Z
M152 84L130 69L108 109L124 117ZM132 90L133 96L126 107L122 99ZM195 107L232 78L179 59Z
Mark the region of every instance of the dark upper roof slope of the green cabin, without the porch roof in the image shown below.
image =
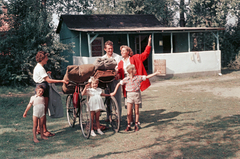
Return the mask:
M154 15L119 15L119 14L96 14L96 15L62 15L60 17L57 32L60 31L61 23L67 25L70 30L87 29L126 29L136 27L160 26L160 22Z

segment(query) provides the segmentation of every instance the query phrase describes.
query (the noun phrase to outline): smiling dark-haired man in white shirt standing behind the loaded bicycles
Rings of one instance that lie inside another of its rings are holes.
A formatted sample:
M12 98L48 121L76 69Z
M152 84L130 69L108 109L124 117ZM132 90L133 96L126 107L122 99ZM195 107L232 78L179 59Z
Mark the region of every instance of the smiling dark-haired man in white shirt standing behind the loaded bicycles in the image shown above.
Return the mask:
M103 58L113 58L116 60L117 64L122 60L122 57L120 55L113 52L113 42L112 41L108 40L105 42L104 51L106 52L106 54L102 56ZM117 66L116 66L115 70L117 71ZM106 92L106 93L112 93L115 90L115 87L118 84L118 82L119 82L119 79L116 78L114 81L108 83L108 88L110 89L110 92ZM120 112L120 118L121 118L122 117L121 89L118 89L118 91L114 97L117 100L118 108L119 108L119 112ZM107 116L109 116L109 115L107 115Z

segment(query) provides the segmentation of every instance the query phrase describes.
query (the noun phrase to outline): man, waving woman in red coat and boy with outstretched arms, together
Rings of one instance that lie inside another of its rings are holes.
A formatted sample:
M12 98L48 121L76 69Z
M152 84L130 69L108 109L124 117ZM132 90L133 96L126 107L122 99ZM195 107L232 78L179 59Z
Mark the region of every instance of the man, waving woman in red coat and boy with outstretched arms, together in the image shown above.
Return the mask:
M159 71L147 76L147 71L143 62L148 58L151 52L151 35L148 38L148 44L141 54L133 55L133 51L130 47L122 45L120 47L121 55L113 53L113 43L107 41L104 45L106 54L104 58L114 58L117 65L116 79L110 83L110 95L114 95L119 106L120 116L122 112L121 104L121 89L118 89L122 85L122 92L127 103L127 128L125 131L131 130L131 123L133 122L133 107L135 110L135 131L139 130L139 106L142 103L140 91L144 91L150 86L148 78L160 74ZM120 81L121 80L121 81ZM134 106L133 106L134 105Z

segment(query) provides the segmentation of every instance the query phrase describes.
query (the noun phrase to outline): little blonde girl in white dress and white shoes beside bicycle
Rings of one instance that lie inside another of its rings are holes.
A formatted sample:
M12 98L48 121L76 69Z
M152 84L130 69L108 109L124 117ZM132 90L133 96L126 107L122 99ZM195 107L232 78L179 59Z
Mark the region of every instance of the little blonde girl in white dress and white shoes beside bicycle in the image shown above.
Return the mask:
M85 88L82 91L82 95L89 95L89 107L91 112L91 119L92 119L92 128L91 128L91 136L96 136L94 130L93 130L93 122L94 117L97 125L97 132L100 135L103 135L104 133L100 129L100 122L99 122L99 116L100 111L104 110L106 111L106 108L104 106L103 100L101 96L110 96L109 94L104 94L101 88L98 88L98 79L95 79L94 77L91 77L88 81L89 83L85 85ZM91 87L90 87L91 86Z

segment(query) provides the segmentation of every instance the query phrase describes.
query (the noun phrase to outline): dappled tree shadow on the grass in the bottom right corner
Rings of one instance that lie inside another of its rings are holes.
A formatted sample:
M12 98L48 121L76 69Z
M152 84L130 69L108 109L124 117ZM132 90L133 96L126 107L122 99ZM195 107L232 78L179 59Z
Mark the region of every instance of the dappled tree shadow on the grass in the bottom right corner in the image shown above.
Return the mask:
M180 151L178 157L184 158L234 157L239 150L239 122L239 115L223 118L217 116L205 122L175 126L176 130L190 130L168 140L157 139L159 145L167 146L167 151L156 153L153 157L168 158L174 150Z

